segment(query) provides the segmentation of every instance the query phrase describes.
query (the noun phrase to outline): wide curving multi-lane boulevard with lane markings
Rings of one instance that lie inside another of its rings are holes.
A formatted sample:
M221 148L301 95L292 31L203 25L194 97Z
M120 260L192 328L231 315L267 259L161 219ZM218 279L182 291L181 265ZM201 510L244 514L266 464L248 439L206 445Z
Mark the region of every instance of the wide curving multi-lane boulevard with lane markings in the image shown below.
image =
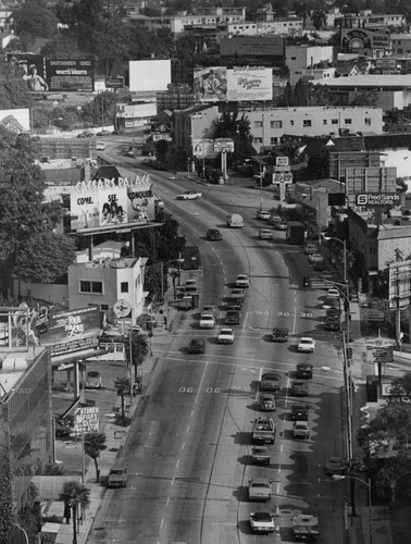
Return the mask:
M199 330L195 311L180 313L169 347L155 349L158 363L125 448L129 485L107 491L89 542L288 543L294 542L291 512L303 510L320 516L319 542L342 543L342 486L324 475L326 457L341 454L342 362L338 342L321 329L319 293L301 287L310 271L302 249L287 246L281 232L273 242L258 239L256 189L204 186L202 199L182 202L175 195L192 188L192 182L150 174L182 234L200 247L202 270L191 272L200 284L200 306L216 305L221 324L224 297L236 274L248 273L251 285L232 346L216 343L216 330ZM242 230L225 227L231 211L245 218ZM214 226L223 240L209 243L204 233ZM289 329L288 344L270 342L275 325ZM315 354L296 351L302 334L315 337ZM195 335L207 339L204 355L187 353ZM311 435L296 441L289 382L302 361L314 364L310 395L303 399L310 406ZM259 379L273 369L283 375L274 415L277 438L270 446L270 467L257 467L249 462L251 421L259 413ZM247 498L248 480L256 475L273 480L267 504ZM279 532L251 534L248 518L256 510L272 511Z

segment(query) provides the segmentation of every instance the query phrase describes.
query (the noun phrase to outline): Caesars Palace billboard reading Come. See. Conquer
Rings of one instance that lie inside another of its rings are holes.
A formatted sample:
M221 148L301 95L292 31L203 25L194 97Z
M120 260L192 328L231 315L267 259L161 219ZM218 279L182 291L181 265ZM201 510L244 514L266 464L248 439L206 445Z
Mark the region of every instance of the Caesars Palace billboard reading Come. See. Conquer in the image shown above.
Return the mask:
M78 182L70 196L73 231L148 223L155 217L149 175Z

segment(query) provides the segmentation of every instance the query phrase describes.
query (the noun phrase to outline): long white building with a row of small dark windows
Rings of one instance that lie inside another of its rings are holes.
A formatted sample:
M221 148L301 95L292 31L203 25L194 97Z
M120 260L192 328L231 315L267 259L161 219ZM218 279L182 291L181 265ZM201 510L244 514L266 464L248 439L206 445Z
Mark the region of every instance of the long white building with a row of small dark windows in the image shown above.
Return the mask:
M301 107L244 109L250 121L253 146L276 145L282 136L322 136L358 132L382 134L383 111L379 108ZM334 175L332 175L334 177Z

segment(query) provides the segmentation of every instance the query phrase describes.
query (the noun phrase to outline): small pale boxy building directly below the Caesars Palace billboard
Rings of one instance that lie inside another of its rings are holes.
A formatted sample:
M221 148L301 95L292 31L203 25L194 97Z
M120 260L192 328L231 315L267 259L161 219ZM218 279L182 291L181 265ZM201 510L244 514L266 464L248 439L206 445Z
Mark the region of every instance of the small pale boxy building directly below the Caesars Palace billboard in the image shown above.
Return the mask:
M97 258L68 267L70 309L96 306L111 322L119 317L115 304L128 309L124 318L132 324L142 313L145 305L144 267L146 258Z

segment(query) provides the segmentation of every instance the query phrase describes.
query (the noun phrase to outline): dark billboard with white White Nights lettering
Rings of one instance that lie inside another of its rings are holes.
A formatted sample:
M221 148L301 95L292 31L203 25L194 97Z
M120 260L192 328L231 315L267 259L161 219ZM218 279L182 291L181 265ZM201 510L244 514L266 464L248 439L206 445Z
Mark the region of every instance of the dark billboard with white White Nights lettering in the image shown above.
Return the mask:
M95 65L90 59L46 60L49 90L92 92L95 90Z

